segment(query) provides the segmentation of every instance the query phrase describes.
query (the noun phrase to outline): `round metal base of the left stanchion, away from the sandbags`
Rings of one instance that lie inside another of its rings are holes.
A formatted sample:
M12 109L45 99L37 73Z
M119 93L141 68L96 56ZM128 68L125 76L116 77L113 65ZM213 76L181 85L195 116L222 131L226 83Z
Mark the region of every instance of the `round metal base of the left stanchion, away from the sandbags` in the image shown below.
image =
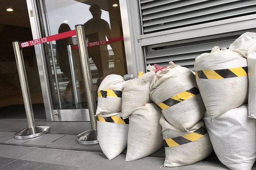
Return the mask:
M30 139L38 136L42 136L50 131L49 126L35 126L26 127L22 131L15 133L15 139Z

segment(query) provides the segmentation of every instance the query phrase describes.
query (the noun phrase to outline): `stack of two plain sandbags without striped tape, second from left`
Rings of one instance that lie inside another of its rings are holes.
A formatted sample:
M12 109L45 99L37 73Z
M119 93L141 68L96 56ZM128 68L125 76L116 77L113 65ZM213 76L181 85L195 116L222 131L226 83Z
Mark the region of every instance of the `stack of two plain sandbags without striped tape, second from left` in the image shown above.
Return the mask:
M153 77L152 72L140 72L122 89L122 117L129 118L126 161L143 158L163 147L161 111L149 97Z

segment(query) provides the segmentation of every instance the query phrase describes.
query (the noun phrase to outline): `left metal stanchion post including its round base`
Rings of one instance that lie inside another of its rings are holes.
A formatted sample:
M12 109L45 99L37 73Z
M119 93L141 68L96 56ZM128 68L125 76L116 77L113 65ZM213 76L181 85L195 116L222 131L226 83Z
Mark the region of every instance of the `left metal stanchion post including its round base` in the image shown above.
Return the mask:
M35 124L32 104L30 100L30 93L28 89L26 70L24 66L22 51L20 49L20 42L13 41L12 45L15 53L18 74L20 77L20 86L21 86L21 91L22 91L22 96L24 100L24 106L25 106L25 111L26 111L26 116L28 121L28 127L23 129L22 131L15 133L15 139L29 139L33 137L38 137L38 136L44 135L45 133L48 133L50 131L50 127L37 126Z

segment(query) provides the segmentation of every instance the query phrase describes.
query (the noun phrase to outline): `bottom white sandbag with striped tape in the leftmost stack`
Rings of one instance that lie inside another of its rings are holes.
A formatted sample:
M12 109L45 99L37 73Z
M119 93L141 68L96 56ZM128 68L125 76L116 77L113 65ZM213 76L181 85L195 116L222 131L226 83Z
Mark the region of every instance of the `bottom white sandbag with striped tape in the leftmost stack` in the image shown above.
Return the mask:
M122 119L122 113L98 115L98 140L102 152L111 160L127 147L129 119Z

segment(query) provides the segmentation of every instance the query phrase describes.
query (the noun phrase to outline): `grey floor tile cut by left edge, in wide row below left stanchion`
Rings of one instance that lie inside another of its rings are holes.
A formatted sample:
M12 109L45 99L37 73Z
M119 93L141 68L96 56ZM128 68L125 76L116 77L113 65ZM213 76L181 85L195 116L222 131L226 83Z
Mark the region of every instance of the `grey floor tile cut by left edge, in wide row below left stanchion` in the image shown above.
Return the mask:
M0 156L7 158L20 158L34 150L36 147L22 147L22 146L12 146L12 145L0 145Z

